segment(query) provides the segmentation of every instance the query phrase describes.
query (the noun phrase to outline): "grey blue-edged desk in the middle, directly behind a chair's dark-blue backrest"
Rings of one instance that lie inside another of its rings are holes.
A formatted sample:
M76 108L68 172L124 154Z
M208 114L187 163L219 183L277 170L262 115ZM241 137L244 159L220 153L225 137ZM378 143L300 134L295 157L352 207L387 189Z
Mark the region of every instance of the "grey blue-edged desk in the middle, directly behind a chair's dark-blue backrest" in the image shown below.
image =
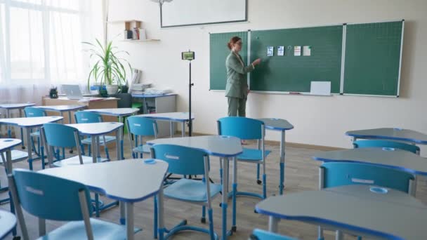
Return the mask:
M212 156L219 156L220 161L223 161L223 194L222 194L222 203L221 207L223 208L223 231L222 239L227 239L227 200L228 200L228 161L229 158L234 158L235 156L243 152L242 145L240 144L239 138L228 137L228 136L218 136L218 135L209 135L209 136L197 136L197 137L185 137L185 138L160 138L156 140L151 140L147 142L148 145L155 144L171 144L171 145L180 145L184 147L192 147L195 149L200 149ZM233 189L237 189L237 161L233 161ZM236 195L235 191L232 193L232 232L235 232L237 229L236 225ZM232 234L232 232L230 232Z

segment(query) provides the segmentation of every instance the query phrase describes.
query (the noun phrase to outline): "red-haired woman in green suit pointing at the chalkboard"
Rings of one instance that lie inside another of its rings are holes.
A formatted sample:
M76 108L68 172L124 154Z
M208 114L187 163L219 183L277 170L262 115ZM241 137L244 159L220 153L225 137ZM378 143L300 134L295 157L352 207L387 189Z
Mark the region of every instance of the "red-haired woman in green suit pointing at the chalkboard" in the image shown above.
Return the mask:
M242 39L233 36L227 44L231 50L225 60L227 67L227 85L225 97L228 98L228 116L246 116L246 100L249 94L247 73L255 69L261 62L258 58L251 65L245 66L239 51L242 50Z

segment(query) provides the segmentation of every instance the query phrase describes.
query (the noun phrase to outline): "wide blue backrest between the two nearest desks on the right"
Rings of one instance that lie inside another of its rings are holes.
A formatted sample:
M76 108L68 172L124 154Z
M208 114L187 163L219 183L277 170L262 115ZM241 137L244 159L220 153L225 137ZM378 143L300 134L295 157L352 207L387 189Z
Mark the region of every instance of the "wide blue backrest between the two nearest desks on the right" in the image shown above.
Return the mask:
M343 185L376 185L412 193L412 173L372 164L328 162L320 166L320 189Z

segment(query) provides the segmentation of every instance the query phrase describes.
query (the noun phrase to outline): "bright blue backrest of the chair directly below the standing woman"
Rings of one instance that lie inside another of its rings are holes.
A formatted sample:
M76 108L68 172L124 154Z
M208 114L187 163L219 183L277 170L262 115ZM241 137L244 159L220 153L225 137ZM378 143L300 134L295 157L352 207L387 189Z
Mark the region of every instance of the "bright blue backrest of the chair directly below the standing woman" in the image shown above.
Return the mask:
M265 128L263 121L240 116L228 116L218 119L218 135L228 135L242 140L263 139Z

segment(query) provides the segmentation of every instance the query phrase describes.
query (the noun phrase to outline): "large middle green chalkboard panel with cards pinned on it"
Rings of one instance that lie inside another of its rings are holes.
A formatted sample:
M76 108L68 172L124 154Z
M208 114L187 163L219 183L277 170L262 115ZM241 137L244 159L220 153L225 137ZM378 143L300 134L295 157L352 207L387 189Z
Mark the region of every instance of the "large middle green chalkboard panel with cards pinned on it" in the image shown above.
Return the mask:
M250 75L252 91L310 92L311 81L331 81L331 93L339 93L343 25L251 31L250 38L251 60L262 60ZM278 46L284 46L283 56ZM301 46L301 56L294 55L294 46ZM303 46L311 47L310 56L303 55Z

